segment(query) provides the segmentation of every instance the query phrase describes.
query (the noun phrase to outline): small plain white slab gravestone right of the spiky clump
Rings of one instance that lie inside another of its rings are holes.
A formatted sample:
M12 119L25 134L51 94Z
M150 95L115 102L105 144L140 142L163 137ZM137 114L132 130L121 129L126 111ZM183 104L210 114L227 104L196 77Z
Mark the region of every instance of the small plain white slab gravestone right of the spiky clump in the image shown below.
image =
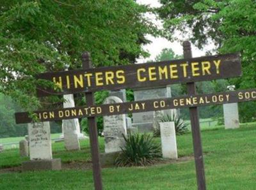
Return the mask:
M163 158L177 159L177 143L174 122L160 122L161 147Z

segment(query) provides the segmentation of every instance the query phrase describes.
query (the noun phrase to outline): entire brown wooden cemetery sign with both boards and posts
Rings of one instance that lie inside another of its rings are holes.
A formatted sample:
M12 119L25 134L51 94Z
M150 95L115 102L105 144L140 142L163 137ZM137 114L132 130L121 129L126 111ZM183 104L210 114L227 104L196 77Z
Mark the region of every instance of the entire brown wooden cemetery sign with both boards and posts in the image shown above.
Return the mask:
M206 189L198 111L196 107L253 101L256 100L256 89L196 95L194 82L241 76L240 55L226 54L192 58L189 41L184 41L183 48L184 59L104 68L92 68L90 54L86 52L82 56L83 69L81 70L42 73L38 75L38 79L49 80L58 87L58 89L38 87L38 97L85 92L86 106L40 110L34 113L40 122L88 117L95 189L102 189L95 117L185 107L189 107L191 116L198 189ZM188 96L106 105L94 104L93 92L95 91L117 90L128 87L132 89L159 87L177 83L187 84ZM28 112L15 113L15 119L17 123L31 122Z

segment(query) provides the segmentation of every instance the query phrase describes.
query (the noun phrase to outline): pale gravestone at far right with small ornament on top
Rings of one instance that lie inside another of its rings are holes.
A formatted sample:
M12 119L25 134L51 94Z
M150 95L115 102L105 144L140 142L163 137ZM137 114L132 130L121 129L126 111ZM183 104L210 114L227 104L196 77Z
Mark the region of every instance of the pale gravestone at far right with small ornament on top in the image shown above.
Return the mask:
M230 85L227 87L228 91L234 91L235 86ZM239 128L239 112L237 103L223 104L225 129Z

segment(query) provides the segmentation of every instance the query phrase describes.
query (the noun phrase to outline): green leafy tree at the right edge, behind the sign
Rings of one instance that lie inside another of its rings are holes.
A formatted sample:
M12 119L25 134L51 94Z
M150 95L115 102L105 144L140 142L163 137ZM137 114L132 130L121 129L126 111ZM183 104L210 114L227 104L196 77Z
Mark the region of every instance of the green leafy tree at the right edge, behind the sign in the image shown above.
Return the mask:
M221 54L241 52L243 76L229 80L237 88L255 87L256 3L253 0L161 0L157 11L169 39L179 30L199 48L213 41ZM190 35L189 35L190 34ZM255 117L255 103L239 106L243 121ZM246 114L244 114L246 113Z

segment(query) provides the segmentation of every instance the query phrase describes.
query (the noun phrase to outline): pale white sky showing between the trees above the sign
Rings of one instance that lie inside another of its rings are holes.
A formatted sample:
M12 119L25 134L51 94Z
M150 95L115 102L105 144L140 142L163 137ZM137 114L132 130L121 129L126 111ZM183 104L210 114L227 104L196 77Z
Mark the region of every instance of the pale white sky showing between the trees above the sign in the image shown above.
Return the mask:
M157 0L137 0L137 3L149 4L152 7L161 6L161 4ZM152 19L154 23L157 24L157 26L161 27L161 21L156 20L156 17L154 17L154 15L147 14L145 15L145 17ZM176 33L175 35L179 35L179 33ZM137 63L147 62L148 60L154 60L156 55L158 55L163 48L172 48L172 50L177 55L182 55L183 53L182 45L178 41L170 42L166 40L166 38L154 38L151 35L147 35L146 37L148 40L152 41L152 43L144 45L143 49L147 50L150 53L150 57L146 59L145 58L137 59ZM213 47L214 46L210 44L207 47L205 47L204 50L199 50L194 45L192 45L193 57L204 56L205 52L207 50L211 50Z

